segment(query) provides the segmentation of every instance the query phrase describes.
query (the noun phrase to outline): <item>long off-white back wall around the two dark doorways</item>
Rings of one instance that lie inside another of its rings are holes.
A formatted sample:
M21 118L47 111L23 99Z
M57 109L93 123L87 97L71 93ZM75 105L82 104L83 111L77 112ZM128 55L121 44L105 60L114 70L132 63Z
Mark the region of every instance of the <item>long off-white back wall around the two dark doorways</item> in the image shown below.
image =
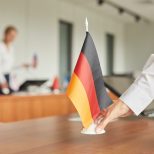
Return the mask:
M117 73L125 70L124 24L111 16L104 16L63 0L0 0L0 2L0 31L2 32L8 24L18 27L17 63L30 60L32 54L37 52L40 59L36 72L38 77L52 77L59 73L59 20L69 21L74 25L73 66L75 65L85 37L86 16L103 73L106 73L106 32L113 33L116 38L114 70Z

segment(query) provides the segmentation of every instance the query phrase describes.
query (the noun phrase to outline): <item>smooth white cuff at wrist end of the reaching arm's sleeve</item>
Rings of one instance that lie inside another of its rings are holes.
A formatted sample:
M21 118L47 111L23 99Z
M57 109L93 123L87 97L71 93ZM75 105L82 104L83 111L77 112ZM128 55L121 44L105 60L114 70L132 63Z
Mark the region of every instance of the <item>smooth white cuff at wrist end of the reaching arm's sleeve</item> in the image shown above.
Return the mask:
M135 84L131 85L120 99L128 105L136 115L139 115L153 100Z

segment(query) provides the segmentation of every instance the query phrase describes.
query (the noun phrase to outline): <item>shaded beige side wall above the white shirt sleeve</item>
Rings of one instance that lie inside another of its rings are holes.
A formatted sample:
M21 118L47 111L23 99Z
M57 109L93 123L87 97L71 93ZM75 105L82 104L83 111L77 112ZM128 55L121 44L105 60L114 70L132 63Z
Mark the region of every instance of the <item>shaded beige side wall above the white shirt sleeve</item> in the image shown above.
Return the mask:
M127 24L125 26L125 71L142 70L152 53L154 53L154 24Z

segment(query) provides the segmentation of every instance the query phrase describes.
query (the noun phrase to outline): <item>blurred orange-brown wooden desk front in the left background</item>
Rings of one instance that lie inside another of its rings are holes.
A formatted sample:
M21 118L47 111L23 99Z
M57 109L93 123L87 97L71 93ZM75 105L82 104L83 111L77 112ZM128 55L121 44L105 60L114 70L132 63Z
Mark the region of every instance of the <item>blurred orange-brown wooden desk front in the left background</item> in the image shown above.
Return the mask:
M64 94L0 97L0 122L12 122L76 112Z

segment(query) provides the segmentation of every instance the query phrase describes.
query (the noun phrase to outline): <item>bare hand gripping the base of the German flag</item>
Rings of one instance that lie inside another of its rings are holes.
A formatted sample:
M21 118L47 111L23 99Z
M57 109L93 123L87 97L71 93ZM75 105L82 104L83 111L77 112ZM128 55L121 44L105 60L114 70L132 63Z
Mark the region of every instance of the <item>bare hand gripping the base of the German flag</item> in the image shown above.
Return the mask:
M115 120L118 117L126 117L131 114L133 114L132 110L120 99L114 101L114 103L107 109L103 110L96 119L96 132L99 133L102 131L112 120Z

